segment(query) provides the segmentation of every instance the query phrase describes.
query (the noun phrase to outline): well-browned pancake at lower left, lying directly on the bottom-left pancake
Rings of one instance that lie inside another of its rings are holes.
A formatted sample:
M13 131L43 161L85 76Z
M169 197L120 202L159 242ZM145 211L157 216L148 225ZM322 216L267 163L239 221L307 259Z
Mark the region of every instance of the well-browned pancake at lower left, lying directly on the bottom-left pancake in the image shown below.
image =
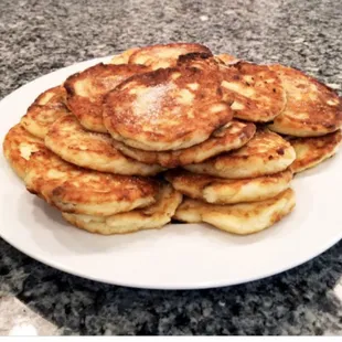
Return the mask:
M26 189L63 212L108 216L154 203L150 179L89 171L42 148L30 156Z

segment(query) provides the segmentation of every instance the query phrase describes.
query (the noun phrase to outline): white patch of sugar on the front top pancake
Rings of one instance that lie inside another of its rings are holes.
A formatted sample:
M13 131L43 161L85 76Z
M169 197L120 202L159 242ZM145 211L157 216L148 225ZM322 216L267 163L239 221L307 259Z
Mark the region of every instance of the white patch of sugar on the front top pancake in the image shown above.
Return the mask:
M172 88L172 84L161 84L156 87L145 88L137 94L136 100L132 103L132 113L135 116L146 120L154 120L158 118L161 104Z

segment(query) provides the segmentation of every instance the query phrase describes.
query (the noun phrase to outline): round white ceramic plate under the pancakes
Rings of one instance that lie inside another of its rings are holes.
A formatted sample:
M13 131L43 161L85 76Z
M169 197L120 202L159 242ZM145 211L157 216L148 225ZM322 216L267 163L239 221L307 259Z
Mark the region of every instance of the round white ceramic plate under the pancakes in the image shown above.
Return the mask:
M19 88L0 103L0 139L34 98L79 63ZM202 224L177 224L121 236L99 236L66 224L31 195L0 158L0 235L19 250L73 275L115 285L195 289L242 284L281 272L324 252L342 237L342 153L293 181L297 207L275 226L235 236Z

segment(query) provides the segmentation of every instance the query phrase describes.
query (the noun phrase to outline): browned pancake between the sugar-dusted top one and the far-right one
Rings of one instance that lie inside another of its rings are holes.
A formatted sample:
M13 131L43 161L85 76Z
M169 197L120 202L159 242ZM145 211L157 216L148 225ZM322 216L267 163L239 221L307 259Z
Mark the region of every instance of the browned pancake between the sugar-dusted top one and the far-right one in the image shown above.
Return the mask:
M277 73L267 65L238 62L222 66L224 98L234 99L234 117L268 122L285 108L286 94Z

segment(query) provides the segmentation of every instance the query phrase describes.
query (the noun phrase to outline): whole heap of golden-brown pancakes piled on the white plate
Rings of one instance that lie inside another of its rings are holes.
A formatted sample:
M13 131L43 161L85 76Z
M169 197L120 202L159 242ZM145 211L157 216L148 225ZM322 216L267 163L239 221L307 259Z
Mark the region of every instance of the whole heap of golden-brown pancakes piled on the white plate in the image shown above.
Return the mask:
M26 189L79 228L174 218L249 234L290 213L293 173L335 153L341 125L338 95L299 71L177 43L70 76L3 150Z

